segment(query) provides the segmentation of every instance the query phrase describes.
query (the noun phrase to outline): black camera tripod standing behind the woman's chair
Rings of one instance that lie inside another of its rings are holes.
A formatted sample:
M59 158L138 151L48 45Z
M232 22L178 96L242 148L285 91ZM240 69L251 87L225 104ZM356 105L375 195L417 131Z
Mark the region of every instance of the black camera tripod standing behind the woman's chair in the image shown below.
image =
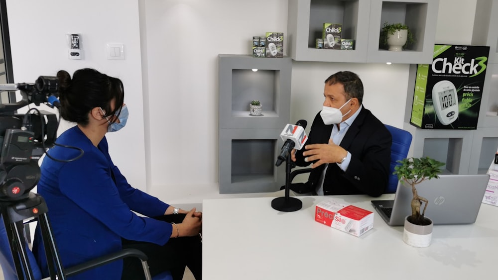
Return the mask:
M36 218L41 229L50 279L65 280L64 269L47 216L48 207L45 199L39 194L29 192L27 196L17 200L0 200L0 210L17 278L19 280L35 280L26 253L27 247L23 231L23 221L29 218Z

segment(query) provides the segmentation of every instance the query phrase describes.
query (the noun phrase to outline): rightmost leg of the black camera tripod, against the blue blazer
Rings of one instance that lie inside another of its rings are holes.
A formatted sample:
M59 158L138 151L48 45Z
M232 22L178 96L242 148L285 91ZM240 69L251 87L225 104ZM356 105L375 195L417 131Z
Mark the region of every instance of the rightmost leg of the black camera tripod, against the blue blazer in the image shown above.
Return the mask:
M48 271L51 279L65 280L64 268L60 262L59 251L55 245L55 239L50 227L47 213L38 216L38 223L40 224L41 236L43 239L43 246L45 247L45 255L47 257Z

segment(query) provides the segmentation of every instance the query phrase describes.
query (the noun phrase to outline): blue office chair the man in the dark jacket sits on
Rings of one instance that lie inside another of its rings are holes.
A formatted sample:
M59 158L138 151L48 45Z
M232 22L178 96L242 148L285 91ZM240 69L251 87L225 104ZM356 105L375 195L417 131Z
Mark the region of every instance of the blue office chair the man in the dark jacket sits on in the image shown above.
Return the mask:
M398 177L394 174L394 167L399 165L396 161L405 159L408 156L408 151L410 150L412 136L410 132L396 128L385 124L385 127L391 133L392 144L391 144L391 163L389 168L389 178L385 193L394 193L398 187ZM297 169L290 174L290 182L299 174L309 173L311 168ZM280 187L280 190L284 189L285 186ZM311 193L308 182L306 183L294 183L291 184L290 189L296 193L304 194Z

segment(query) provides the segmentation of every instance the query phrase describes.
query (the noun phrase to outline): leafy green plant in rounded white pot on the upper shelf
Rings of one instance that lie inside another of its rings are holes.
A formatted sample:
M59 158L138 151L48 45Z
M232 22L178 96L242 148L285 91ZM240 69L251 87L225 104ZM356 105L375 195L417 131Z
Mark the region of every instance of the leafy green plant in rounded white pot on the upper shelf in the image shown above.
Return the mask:
M389 51L402 51L406 46L415 42L410 28L403 23L387 23L380 31L379 45Z

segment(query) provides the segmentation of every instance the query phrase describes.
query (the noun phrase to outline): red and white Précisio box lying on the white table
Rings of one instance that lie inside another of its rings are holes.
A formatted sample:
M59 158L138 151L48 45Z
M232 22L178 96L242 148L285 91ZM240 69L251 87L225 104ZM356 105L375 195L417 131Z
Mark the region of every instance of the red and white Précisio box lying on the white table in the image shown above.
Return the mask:
M315 221L361 236L373 228L373 212L329 199L316 205Z

